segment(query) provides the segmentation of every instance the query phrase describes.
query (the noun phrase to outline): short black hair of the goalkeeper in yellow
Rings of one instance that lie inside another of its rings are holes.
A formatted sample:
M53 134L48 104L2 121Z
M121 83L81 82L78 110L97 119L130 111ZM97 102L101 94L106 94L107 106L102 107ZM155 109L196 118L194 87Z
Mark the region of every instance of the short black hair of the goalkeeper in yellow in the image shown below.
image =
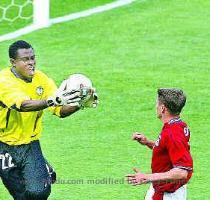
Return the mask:
M9 57L16 59L18 49L30 49L30 48L33 49L33 47L28 42L24 40L18 40L9 46Z

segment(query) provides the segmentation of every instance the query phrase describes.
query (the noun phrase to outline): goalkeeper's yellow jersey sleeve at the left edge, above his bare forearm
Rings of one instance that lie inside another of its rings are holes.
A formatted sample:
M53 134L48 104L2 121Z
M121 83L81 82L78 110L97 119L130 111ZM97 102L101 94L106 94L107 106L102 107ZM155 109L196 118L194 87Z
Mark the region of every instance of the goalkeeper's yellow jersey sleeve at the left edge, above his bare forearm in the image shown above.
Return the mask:
M15 106L20 109L23 101L30 100L30 97L16 85L4 80L0 80L0 82L0 101L8 108Z

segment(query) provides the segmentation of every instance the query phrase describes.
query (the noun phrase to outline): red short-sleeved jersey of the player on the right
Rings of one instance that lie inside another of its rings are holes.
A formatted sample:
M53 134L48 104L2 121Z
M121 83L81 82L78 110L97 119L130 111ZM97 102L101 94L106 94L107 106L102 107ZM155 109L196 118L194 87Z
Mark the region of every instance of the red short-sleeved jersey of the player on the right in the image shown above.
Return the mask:
M188 178L171 183L153 183L154 200L161 200L164 192L175 192L189 181L193 169L189 140L190 131L181 119L175 118L164 124L153 147L152 173L167 172L177 167L188 170Z

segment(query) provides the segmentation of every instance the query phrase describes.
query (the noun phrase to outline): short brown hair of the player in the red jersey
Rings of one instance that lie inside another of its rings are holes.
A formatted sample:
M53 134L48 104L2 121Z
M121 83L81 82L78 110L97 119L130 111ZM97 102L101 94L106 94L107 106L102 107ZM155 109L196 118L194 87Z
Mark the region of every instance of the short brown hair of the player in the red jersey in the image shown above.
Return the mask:
M180 89L160 88L158 89L158 100L168 108L172 115L178 115L185 106L186 96Z

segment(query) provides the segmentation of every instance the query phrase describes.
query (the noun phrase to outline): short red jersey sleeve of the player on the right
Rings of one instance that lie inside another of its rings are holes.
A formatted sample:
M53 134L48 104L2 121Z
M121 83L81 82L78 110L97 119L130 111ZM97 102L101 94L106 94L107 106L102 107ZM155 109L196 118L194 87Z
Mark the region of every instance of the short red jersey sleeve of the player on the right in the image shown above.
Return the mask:
M172 129L165 134L165 145L173 167L192 170L193 162L188 139L181 127Z

